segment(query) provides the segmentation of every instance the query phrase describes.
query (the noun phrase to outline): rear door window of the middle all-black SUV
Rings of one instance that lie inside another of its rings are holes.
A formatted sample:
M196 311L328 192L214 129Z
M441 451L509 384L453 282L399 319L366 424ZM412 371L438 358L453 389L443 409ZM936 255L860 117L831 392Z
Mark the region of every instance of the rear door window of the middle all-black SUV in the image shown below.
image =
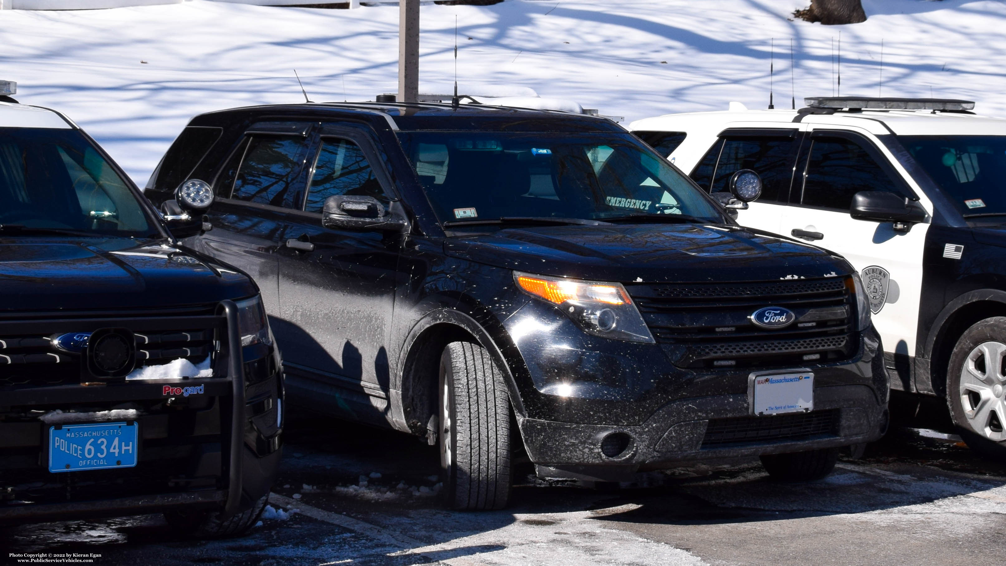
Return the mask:
M234 175L231 198L287 208L299 207L297 186L307 153L300 136L253 135Z

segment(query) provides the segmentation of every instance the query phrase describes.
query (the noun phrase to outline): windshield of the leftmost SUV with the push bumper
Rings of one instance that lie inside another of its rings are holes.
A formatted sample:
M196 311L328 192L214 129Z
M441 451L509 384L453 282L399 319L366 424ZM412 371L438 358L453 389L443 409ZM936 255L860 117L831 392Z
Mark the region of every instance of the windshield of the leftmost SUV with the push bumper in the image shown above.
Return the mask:
M0 235L156 236L129 185L77 130L0 128Z

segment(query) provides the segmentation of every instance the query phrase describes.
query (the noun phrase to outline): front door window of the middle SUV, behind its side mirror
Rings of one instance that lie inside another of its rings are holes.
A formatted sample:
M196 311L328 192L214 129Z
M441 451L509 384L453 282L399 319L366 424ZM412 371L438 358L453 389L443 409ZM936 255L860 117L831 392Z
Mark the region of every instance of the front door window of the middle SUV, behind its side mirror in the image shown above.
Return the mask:
M323 138L304 209L320 213L325 199L336 194L373 196L385 206L389 203L358 145L342 138Z

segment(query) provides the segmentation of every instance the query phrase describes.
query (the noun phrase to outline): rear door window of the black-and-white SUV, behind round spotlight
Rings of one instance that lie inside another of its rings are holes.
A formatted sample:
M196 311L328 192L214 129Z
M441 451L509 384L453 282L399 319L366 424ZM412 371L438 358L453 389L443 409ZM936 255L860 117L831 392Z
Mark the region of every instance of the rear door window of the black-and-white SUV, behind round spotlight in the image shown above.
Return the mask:
M786 202L793 179L796 143L796 138L789 137L725 138L711 192L729 190L726 183L730 175L740 169L751 169L762 175L764 189L760 201Z

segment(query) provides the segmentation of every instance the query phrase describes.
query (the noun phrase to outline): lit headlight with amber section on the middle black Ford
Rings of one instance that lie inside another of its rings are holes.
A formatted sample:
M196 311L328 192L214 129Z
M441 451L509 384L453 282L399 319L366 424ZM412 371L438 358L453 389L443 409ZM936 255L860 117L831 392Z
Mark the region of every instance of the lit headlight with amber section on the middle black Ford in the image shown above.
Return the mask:
M513 278L525 293L558 305L586 332L634 342L656 341L621 283L577 281L517 271Z

